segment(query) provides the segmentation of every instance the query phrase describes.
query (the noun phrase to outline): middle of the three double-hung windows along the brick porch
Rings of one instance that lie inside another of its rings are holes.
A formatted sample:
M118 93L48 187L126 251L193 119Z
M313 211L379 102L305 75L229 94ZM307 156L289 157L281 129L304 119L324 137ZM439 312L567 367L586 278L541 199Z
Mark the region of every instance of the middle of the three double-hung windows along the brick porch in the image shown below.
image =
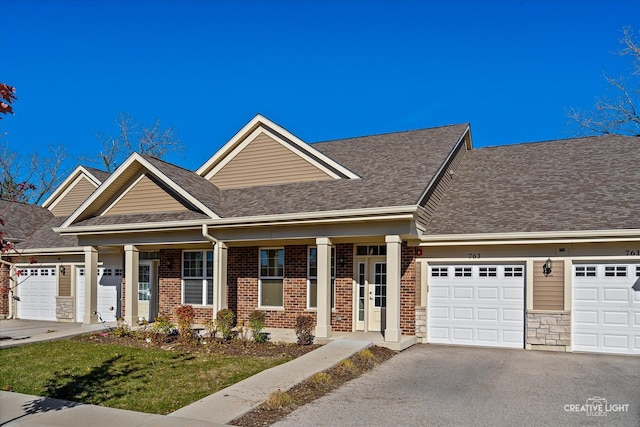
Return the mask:
M260 249L260 307L284 307L284 249Z

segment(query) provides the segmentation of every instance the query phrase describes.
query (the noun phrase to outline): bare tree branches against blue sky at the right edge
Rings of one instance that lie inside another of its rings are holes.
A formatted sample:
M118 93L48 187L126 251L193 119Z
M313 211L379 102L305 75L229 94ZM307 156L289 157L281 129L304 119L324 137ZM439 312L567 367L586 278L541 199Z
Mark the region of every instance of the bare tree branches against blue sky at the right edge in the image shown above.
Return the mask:
M636 107L640 99L640 44L634 39L630 27L622 30L620 56L630 56L633 69L628 77L610 77L605 80L614 89L613 96L596 101L595 111L570 109L567 113L581 128L582 134L620 134L640 136L640 115Z

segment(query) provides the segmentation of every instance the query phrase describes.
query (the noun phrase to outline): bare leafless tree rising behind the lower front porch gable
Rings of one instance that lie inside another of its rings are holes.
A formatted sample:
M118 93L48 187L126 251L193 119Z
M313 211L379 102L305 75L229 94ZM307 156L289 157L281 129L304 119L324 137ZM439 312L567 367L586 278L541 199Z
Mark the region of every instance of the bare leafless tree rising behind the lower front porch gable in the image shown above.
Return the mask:
M120 113L116 119L117 136L98 133L97 137L102 148L98 154L98 162L107 172L113 172L118 162L133 152L149 154L154 157L164 157L168 153L181 151L182 144L171 128L162 128L157 119L153 126L145 127L135 122L129 115Z

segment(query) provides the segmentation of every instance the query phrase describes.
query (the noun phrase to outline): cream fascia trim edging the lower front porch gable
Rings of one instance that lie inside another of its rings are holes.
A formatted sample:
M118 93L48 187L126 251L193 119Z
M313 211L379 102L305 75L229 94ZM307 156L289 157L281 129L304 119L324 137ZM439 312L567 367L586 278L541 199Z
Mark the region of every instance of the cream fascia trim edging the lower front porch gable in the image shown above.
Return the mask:
M215 212L210 210L208 207L206 207L203 203L201 203L198 199L193 197L191 194L184 191L182 187L180 187L171 179L169 179L169 177L167 177L154 165L149 163L144 157L142 157L138 153L133 153L131 154L131 156L129 156L129 158L127 158L127 160L124 161L122 165L120 165L120 167L114 173L111 174L111 176L109 176L109 178L104 182L102 186L98 188L97 191L94 191L93 194L91 194L91 196L89 196L89 198L85 200L84 203L80 205L80 207L78 207L78 209L76 209L71 215L69 215L69 217L65 220L65 222L62 223L60 227L58 227L58 230L68 228L71 224L73 224L73 222L76 221L80 217L80 215L83 212L85 212L91 206L91 204L94 203L100 197L100 195L102 195L102 193L104 193L106 189L109 188L113 184L113 182L120 177L120 175L122 175L130 167L133 167L135 163L138 163L140 166L146 168L157 179L161 180L171 189L176 191L178 194L180 194L182 197L184 197L186 200L192 203L193 206L196 206L197 208L201 209L202 212L204 212L206 215L209 215L212 218L219 218L219 216Z

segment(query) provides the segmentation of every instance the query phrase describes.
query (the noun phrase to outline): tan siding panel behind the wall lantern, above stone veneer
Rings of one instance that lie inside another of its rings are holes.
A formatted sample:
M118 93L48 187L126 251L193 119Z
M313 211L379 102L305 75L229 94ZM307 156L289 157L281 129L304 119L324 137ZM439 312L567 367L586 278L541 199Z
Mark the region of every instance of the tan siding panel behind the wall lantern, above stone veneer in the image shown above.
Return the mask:
M542 272L544 261L533 263L533 309L564 309L564 263L553 263L552 272L545 277Z

